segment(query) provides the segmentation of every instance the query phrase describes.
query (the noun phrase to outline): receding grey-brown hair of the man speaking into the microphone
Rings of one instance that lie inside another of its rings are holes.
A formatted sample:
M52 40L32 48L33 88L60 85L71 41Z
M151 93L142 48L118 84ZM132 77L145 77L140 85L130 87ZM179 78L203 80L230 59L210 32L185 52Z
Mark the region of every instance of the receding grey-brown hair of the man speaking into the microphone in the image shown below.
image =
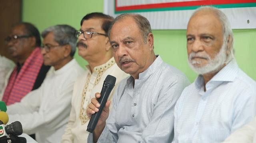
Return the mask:
M151 30L151 26L150 26L150 23L147 20L147 18L145 18L144 16L142 16L140 14L128 14L128 13L125 13L125 14L121 14L121 15L117 16L114 19L114 21L112 22L112 24L110 25L110 28L108 30L108 38L110 39L110 31L111 31L113 25L116 22L118 22L118 21L120 21L120 20L122 20L124 18L127 18L127 17L132 17L134 19L134 21L136 22L136 24L138 26L138 29L140 30L141 36L143 38L143 41L146 44L147 43L148 34L152 33L152 30Z

